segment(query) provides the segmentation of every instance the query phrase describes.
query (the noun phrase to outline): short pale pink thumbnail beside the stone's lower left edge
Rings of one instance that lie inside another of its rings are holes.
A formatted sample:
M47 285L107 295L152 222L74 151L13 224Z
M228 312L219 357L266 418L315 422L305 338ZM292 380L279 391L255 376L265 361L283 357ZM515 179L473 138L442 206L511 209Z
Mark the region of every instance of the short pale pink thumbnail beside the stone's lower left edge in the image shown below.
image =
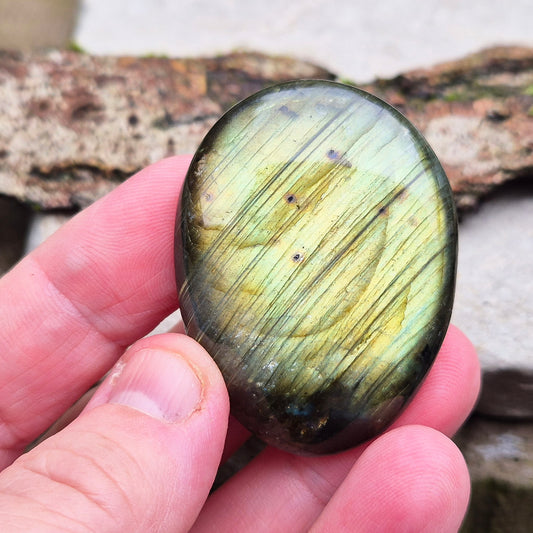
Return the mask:
M126 405L159 420L186 420L202 400L202 383L179 354L144 349L119 362L110 376L109 403Z

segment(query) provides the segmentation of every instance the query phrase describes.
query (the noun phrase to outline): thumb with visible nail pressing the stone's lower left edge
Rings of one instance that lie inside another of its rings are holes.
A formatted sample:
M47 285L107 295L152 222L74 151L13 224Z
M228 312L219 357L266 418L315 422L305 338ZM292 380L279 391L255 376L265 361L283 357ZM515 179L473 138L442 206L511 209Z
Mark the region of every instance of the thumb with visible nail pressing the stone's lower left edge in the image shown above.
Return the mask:
M188 531L228 412L200 345L177 334L137 342L76 420L0 474L2 531Z

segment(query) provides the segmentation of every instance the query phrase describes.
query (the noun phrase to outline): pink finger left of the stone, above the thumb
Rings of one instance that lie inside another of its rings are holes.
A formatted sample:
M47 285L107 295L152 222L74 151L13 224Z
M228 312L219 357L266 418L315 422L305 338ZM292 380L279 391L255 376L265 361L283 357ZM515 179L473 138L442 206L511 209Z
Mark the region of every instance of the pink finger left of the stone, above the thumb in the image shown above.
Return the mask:
M139 172L0 280L0 467L177 306L174 219L188 163Z

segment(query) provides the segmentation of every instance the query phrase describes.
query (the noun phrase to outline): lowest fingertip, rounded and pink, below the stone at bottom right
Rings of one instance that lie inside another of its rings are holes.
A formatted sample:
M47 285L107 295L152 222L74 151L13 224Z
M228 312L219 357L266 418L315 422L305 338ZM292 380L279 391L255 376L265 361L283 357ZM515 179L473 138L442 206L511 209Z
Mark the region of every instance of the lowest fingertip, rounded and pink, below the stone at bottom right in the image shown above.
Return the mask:
M404 426L363 452L310 531L454 533L469 495L457 447L433 429Z

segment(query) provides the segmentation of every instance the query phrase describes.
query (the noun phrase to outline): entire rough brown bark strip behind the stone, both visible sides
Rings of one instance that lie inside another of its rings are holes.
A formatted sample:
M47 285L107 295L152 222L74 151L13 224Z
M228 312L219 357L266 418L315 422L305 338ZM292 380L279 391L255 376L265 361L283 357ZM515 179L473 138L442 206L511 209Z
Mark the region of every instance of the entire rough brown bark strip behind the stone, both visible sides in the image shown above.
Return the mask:
M295 78L335 76L250 53L0 53L0 194L41 209L84 207L143 166L193 152L237 101ZM494 48L362 87L427 137L460 209L533 175L532 49Z

